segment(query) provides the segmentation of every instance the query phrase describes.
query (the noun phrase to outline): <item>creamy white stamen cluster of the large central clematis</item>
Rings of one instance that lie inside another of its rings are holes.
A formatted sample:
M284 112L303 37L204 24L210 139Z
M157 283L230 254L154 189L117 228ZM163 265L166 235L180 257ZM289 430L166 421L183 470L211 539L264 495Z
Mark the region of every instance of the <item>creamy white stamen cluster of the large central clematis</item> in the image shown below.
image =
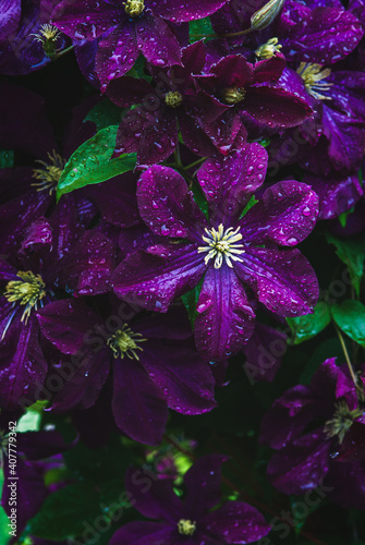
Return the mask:
M232 262L243 262L238 255L244 254L243 244L235 244L239 240L242 240L242 234L239 232L238 227L233 231L233 227L230 227L224 231L222 223L218 227L218 230L205 229L207 237L202 237L204 242L207 243L205 246L198 246L198 253L208 252L205 257L205 264L207 265L209 259L215 259L215 268L219 269L222 266L223 257L229 267L233 268Z

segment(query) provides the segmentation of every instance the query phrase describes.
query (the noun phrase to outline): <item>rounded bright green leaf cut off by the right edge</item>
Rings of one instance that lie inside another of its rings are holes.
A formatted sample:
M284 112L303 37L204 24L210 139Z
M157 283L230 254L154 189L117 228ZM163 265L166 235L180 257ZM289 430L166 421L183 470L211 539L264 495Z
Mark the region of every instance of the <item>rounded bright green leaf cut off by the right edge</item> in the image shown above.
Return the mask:
M352 340L365 348L365 306L360 301L344 301L331 308L336 324Z

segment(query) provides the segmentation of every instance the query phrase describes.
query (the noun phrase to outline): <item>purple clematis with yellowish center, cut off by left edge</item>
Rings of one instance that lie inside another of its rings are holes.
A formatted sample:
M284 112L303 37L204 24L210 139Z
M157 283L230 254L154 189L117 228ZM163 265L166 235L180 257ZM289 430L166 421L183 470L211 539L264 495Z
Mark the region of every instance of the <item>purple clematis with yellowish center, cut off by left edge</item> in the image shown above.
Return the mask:
M109 290L115 249L102 233L85 231L75 197L63 197L50 219L26 230L14 263L0 261L1 407L32 404L47 373L35 311L56 293L98 294Z

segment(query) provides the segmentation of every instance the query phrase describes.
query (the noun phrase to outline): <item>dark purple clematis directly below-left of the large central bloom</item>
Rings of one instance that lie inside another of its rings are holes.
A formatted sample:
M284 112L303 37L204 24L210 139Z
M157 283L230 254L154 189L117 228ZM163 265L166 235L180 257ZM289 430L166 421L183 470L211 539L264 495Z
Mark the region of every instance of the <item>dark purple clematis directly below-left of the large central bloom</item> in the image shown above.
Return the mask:
M85 365L56 395L52 409L92 408L106 387L111 387L108 402L111 399L118 427L134 440L157 445L168 407L182 414L216 407L214 376L190 341L184 313L134 317L133 308L117 302L111 318L92 312L81 300L58 301L38 312L41 331L57 349L63 354L85 352ZM117 328L110 326L114 323Z

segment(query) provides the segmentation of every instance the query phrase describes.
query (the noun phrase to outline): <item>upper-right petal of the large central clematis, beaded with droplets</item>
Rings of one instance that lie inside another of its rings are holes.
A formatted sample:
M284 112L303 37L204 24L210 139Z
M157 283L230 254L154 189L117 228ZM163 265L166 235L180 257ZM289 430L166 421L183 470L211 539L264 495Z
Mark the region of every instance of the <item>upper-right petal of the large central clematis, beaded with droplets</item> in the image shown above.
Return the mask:
M260 202L241 220L248 242L270 239L283 246L295 246L316 225L319 198L309 185L279 182L267 189Z

